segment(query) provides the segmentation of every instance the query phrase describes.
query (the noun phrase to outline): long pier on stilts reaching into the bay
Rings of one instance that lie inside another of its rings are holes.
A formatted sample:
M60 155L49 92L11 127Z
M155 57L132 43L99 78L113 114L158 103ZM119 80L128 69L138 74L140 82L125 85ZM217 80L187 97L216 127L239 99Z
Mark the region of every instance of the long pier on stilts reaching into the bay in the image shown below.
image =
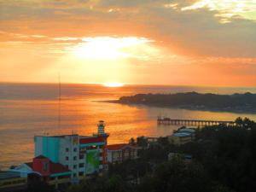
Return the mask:
M223 120L197 120L197 119L171 119L158 117L157 125L189 125L189 126L211 126L211 125L236 125L234 121Z

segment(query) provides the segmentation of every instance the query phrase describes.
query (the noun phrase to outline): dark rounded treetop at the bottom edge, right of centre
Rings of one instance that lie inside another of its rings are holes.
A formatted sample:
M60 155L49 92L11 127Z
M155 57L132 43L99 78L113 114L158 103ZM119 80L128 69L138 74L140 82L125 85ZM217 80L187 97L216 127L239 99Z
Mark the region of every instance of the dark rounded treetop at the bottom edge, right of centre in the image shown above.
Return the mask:
M205 192L211 191L211 183L200 164L186 165L183 160L174 159L160 164L152 177L143 180L139 191Z

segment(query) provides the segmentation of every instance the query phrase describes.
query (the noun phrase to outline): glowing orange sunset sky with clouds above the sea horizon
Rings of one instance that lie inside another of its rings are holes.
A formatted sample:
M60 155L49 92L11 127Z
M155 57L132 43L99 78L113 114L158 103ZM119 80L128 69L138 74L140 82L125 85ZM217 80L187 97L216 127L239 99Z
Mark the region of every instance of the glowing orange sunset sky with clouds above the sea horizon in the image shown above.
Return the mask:
M256 0L0 0L0 82L256 86Z

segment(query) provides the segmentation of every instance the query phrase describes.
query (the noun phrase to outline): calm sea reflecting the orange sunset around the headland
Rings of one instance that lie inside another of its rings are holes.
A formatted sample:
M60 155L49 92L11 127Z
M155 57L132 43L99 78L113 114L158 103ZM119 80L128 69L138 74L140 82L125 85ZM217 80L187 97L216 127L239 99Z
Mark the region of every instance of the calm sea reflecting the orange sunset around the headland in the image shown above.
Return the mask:
M95 102L137 93L198 91L219 94L253 92L256 88L207 88L185 86L127 85L119 88L96 84L61 85L61 126L58 127L58 84L0 84L0 168L32 160L35 135L91 135L98 120L106 122L108 143L126 143L131 137L160 137L176 126L157 126L156 117L180 119L256 119L255 114L190 111L172 108L127 106Z

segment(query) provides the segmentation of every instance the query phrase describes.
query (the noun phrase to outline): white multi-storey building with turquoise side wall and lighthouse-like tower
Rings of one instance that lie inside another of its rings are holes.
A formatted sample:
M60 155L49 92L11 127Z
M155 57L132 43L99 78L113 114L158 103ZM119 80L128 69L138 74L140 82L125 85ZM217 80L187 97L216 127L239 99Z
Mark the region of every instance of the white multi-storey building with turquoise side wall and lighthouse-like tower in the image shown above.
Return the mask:
M102 172L107 164L105 148L108 134L104 132L104 126L100 121L98 133L90 137L77 134L36 136L35 156L44 155L55 163L61 163L72 171L72 178Z

